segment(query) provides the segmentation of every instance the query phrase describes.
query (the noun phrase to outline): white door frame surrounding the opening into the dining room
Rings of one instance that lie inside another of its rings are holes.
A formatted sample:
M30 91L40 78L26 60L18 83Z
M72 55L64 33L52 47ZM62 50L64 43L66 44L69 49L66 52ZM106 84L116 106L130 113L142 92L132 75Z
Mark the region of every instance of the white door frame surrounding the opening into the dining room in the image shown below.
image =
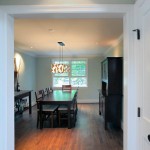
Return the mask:
M87 5L87 6L0 6L0 149L14 150L14 25L15 16L23 14L75 13L116 14L123 17L124 39L124 108L123 148L137 149L136 98L135 98L135 57L133 49L133 5ZM2 122L2 123L1 123Z

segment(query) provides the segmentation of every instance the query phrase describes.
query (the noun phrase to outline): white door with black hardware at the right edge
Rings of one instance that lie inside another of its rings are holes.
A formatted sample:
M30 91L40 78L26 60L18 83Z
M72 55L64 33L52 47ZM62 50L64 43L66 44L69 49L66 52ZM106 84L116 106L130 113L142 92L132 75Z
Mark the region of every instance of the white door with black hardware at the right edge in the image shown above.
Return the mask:
M140 150L150 150L150 0L139 5L139 24L141 28L142 86L140 118Z

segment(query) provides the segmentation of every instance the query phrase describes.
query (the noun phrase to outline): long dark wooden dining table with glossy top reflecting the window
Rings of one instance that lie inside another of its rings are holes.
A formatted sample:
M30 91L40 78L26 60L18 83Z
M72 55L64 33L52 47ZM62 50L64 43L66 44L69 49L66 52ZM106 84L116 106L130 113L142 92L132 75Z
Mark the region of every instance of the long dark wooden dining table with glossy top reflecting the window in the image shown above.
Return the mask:
M43 105L66 105L68 106L68 129L71 128L70 107L74 101L74 95L77 90L53 90L50 94L37 100L39 103L40 118L42 118ZM40 119L40 129L42 129L42 119Z

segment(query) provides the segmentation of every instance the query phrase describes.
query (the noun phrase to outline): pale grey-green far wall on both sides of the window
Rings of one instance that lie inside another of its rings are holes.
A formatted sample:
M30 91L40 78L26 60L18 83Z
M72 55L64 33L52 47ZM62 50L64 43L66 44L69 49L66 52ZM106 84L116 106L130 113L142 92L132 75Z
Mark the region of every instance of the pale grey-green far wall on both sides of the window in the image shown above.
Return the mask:
M50 71L50 58L37 58L37 89L52 86L52 73ZM98 89L101 84L100 57L88 59L88 87L79 89L78 102L98 102Z

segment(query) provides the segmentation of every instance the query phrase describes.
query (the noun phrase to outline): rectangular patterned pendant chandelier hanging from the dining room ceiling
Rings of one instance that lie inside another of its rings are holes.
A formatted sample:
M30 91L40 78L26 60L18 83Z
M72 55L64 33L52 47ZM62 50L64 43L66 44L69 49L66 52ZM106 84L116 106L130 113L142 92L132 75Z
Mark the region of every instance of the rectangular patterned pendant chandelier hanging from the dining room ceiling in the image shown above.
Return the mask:
M58 42L60 45L60 58L59 63L54 63L51 65L51 71L52 73L65 73L70 71L69 65L63 64L63 46L65 44L63 42Z

